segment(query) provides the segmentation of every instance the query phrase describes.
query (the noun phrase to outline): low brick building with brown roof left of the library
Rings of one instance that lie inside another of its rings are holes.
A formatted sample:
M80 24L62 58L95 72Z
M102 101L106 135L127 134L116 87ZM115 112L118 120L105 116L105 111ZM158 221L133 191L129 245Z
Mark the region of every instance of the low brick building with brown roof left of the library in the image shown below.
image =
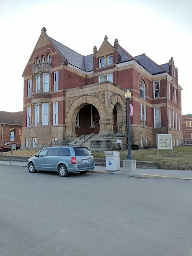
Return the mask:
M23 112L0 111L0 146L10 142L11 132L14 132L14 141L21 143L23 126Z

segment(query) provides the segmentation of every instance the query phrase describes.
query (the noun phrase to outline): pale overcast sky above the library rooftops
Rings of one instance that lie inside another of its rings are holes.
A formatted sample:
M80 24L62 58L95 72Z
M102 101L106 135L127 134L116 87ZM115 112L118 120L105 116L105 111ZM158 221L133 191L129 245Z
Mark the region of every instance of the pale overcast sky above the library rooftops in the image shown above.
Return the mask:
M23 110L22 73L43 26L84 55L107 35L132 56L145 53L157 64L173 57L182 114L192 113L192 0L0 0L1 111Z

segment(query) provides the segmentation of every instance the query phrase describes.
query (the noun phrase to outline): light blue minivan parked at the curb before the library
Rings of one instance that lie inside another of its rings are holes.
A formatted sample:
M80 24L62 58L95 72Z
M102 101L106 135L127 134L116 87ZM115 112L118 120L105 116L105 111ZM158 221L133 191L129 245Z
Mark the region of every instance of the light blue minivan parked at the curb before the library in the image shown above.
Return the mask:
M31 173L58 171L61 177L66 177L69 172L85 174L94 168L92 153L83 146L46 147L28 159L28 170Z

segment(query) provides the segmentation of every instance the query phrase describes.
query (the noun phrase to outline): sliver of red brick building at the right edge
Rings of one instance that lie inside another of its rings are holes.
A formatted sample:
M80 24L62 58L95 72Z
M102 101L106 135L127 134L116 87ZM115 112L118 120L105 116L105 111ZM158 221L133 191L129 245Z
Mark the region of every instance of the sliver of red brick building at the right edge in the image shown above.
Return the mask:
M192 145L192 114L182 115L183 144Z

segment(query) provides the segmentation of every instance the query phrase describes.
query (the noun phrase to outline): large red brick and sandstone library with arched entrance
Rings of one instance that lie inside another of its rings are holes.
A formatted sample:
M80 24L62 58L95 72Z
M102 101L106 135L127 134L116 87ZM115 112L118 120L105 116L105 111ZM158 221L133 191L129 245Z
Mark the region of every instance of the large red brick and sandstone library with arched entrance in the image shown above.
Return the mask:
M156 145L156 133L182 140L181 90L173 58L133 57L105 36L87 56L48 37L45 27L24 69L22 147L67 144L92 134L91 149L127 147L125 91L132 92L131 140ZM97 134L97 136L96 136Z

